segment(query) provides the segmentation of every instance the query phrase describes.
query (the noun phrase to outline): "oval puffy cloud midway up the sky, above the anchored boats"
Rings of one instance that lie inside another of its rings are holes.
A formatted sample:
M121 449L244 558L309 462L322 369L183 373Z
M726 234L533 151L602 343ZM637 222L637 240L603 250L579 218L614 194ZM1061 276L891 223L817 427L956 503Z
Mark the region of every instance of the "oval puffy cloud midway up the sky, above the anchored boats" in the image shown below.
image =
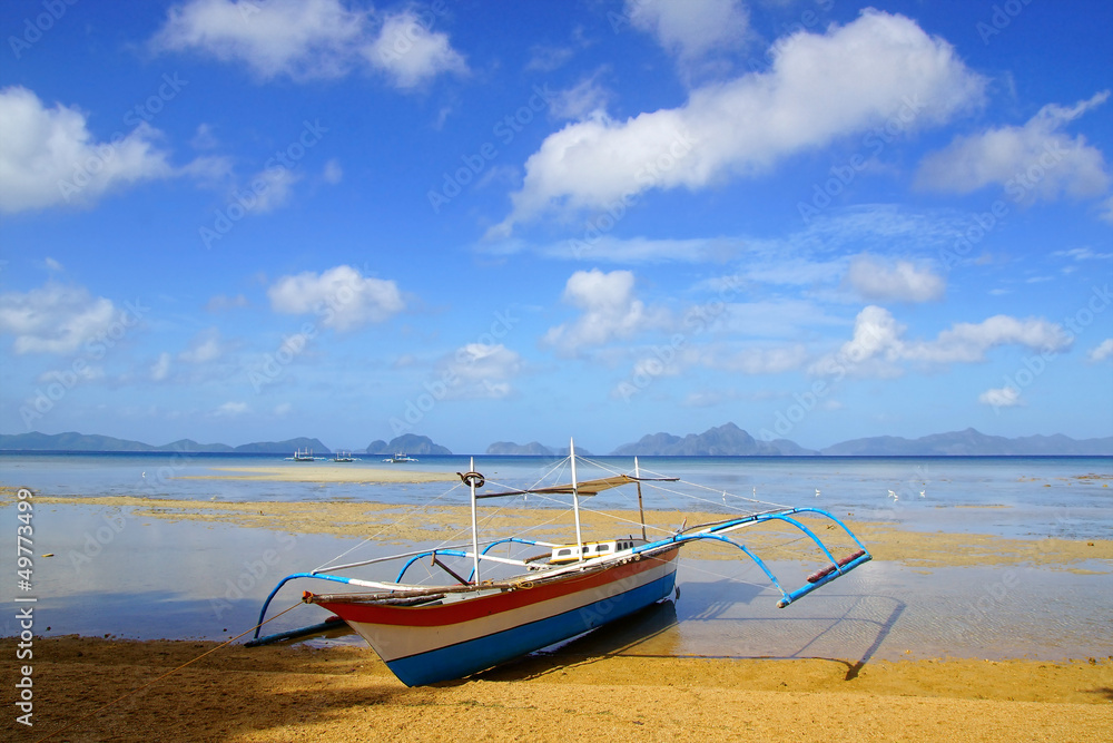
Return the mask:
M339 265L321 274L283 276L267 290L270 307L283 314L315 313L326 327L353 330L382 322L405 309L393 281L363 276Z

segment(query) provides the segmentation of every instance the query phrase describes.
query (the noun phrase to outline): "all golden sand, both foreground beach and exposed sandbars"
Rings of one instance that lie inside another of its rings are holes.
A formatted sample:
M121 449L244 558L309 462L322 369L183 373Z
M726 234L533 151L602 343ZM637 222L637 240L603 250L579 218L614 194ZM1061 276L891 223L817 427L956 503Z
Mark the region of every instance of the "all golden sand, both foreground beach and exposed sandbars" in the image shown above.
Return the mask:
M229 468L220 478L386 476L454 479L416 470L337 467ZM395 480L396 481L396 480ZM420 480L413 480L420 481ZM430 481L430 480L424 480ZM4 501L11 502L11 489ZM129 512L135 522L374 536L384 544L463 532L459 506L406 507L356 501L197 501L140 496L39 495L37 507ZM977 509L969 509L972 512ZM510 532L536 509L496 509L484 530ZM720 515L651 511L651 522L689 525ZM878 564L930 570L985 566L1094 575L1113 564L1113 540L1006 539L923 532L839 514ZM584 514L601 526L629 511ZM556 534L570 526L554 521ZM776 532L767 548L776 548ZM700 559L726 559L706 550ZM868 567L866 568L868 569ZM33 727L13 722L13 681L6 681L11 740L37 741L567 741L570 737L737 741L1082 741L1113 730L1113 656L1061 662L976 657L880 661L708 658L619 647L604 627L466 680L407 688L363 645L285 644L245 648L199 641L130 641L76 635L37 637ZM18 638L0 641L14 658ZM608 649L619 648L619 649ZM201 655L213 651L210 654ZM621 652L620 652L621 651ZM199 659L198 659L199 658ZM188 664L188 665L186 665ZM185 666L185 667L183 667ZM4 664L13 680L14 662ZM169 675L167 675L169 674ZM167 675L162 678L164 675ZM150 684L148 686L148 684ZM136 691L139 690L139 691ZM126 696L125 696L126 695ZM124 696L124 698L119 698ZM106 706L107 705L107 706ZM63 727L66 730L62 730ZM61 731L58 735L52 733Z

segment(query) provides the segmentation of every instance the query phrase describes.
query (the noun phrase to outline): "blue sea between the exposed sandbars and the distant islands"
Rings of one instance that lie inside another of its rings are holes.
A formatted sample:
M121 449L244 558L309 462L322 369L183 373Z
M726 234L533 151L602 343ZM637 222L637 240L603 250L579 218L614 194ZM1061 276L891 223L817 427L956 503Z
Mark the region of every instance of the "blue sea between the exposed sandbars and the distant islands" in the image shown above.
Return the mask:
M384 465L381 457L336 467L466 470L467 457L422 457L416 465ZM629 457L593 458L611 471L629 472ZM536 482L558 463L545 457L475 457L475 468L498 485ZM195 500L314 501L351 499L423 505L466 502L451 483L312 483L183 479L217 468L276 466L296 469L275 454L58 454L0 452L0 482L45 495L140 495ZM646 489L646 507L737 510L756 498L788 506L819 506L837 515L886 520L920 531L1006 537L1102 539L1113 534L1111 457L642 457L643 470L706 486ZM581 466L581 478L600 477ZM567 475L567 472L565 472ZM1096 477L1089 477L1096 476ZM608 491L599 508L631 508L628 488ZM676 495L672 490L683 490ZM816 490L820 491L817 497ZM722 497L723 491L728 493ZM889 493L893 493L890 496ZM923 493L923 495L920 495ZM895 497L894 497L895 496ZM992 508L987 508L992 507ZM972 510L973 509L973 510Z

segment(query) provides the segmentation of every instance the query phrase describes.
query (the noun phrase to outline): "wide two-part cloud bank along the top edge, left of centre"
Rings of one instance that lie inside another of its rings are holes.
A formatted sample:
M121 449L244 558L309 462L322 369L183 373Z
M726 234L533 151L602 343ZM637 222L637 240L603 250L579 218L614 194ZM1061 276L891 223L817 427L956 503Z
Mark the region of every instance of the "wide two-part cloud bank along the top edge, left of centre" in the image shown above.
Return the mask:
M240 62L265 80L337 78L370 67L398 88L413 88L442 72L467 71L447 35L432 30L435 22L432 11L380 16L342 0L191 0L169 10L150 45Z

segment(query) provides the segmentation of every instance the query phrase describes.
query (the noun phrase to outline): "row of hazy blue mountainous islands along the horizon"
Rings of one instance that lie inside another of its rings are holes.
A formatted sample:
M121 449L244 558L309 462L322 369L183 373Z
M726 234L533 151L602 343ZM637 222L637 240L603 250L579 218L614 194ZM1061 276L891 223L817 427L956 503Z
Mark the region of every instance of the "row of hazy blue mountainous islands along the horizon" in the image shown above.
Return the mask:
M109 451L109 452L187 452L187 453L268 453L289 454L296 450L311 450L315 454L333 451L321 439L299 437L285 441L260 441L230 447L225 443L198 443L180 439L161 446L141 441L117 439L110 436L83 433L0 433L2 451ZM356 451L356 450L353 450ZM393 454L452 454L446 447L434 443L425 436L405 433L390 442L376 439L357 453ZM578 453L590 454L577 448ZM563 457L568 447L548 447L538 441L514 443L496 441L487 447L487 454ZM1032 457L1032 456L1113 456L1113 437L1101 439L1072 439L1054 436L1027 436L1008 439L987 436L973 428L949 433L933 433L918 439L898 436L879 436L843 441L825 449L805 449L787 439L762 441L738 428L723 423L702 433L679 437L671 433L650 433L633 443L624 443L613 456L642 457Z

